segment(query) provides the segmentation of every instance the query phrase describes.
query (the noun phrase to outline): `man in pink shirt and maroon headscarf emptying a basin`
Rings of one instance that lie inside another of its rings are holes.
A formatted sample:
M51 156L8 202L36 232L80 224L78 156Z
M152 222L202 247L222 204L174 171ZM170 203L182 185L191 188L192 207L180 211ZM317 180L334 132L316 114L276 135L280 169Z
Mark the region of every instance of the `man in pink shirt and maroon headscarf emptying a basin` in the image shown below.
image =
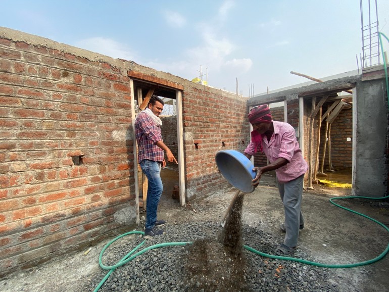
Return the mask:
M301 201L308 165L299 148L295 129L288 123L273 121L267 105L253 108L249 113L249 121L254 130L245 156L250 159L254 154L262 152L270 162L266 166L254 168L257 176L253 179L253 185L259 184L263 173L275 170L285 214L285 222L280 228L286 232L284 241L275 253L289 256L297 249L299 229L304 228Z

